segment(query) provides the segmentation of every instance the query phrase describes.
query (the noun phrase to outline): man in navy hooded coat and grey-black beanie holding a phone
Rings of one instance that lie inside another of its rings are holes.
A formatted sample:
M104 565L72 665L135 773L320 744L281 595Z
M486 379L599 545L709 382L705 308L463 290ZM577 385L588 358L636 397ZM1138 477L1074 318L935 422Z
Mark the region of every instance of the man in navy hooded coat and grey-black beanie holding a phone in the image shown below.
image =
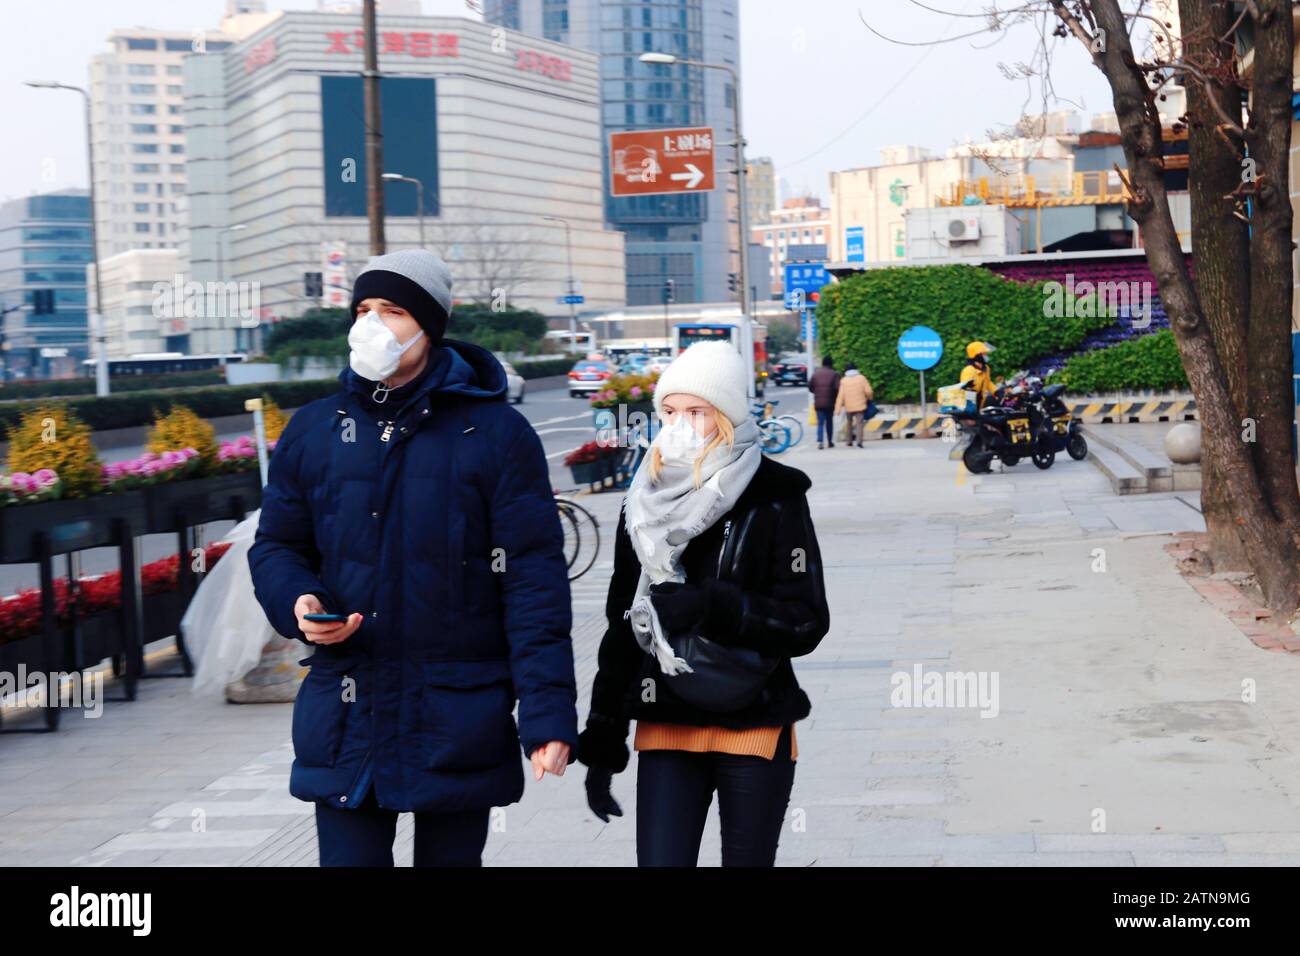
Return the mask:
M443 339L450 312L438 256L369 261L343 389L281 434L248 553L272 626L315 648L289 788L316 803L322 866L391 866L399 812L416 865L478 865L489 810L523 796L519 748L540 780L577 740L542 444L495 358Z

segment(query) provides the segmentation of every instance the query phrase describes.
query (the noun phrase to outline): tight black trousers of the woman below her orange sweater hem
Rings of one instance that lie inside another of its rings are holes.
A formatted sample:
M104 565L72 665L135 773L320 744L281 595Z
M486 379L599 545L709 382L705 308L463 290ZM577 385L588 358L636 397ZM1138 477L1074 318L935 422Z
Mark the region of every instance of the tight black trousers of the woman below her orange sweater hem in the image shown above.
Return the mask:
M729 753L637 754L637 866L694 866L714 791L723 866L772 866L794 786L790 728L772 760Z

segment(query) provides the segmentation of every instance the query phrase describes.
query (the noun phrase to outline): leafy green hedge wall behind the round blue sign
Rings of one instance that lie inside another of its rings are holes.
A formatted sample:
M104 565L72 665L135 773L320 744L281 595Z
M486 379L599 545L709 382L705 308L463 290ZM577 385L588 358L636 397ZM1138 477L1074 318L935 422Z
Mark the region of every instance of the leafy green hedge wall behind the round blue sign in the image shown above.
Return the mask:
M913 325L928 325L944 341L944 358L926 372L933 398L936 388L957 381L967 342L996 347L997 377L1075 346L1115 321L1050 317L1044 315L1046 299L1041 282L1013 282L975 265L871 269L822 289L818 346L838 369L855 363L871 380L878 402L915 401L916 372L898 360L898 337Z

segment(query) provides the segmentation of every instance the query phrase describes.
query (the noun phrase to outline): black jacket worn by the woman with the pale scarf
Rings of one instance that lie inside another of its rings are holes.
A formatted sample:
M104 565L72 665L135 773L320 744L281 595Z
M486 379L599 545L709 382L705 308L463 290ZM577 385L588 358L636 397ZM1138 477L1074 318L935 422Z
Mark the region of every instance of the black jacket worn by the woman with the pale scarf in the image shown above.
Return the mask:
M593 717L578 752L584 763L621 770L629 718L744 730L809 715L811 704L790 658L811 653L831 627L822 553L805 497L810 486L803 472L764 457L732 510L682 553L696 601L698 589L706 593L703 633L783 658L758 700L728 714L699 710L673 695L667 682L656 679L654 658L637 644L624 611L632 605L641 564L620 515L606 600L608 630L592 687ZM659 609L660 598L653 600Z

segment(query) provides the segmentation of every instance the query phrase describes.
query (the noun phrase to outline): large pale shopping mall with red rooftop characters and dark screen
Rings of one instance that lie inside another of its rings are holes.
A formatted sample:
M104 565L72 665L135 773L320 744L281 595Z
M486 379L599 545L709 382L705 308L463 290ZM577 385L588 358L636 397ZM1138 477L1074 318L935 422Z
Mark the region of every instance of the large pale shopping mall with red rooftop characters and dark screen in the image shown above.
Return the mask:
M603 222L593 53L452 17L381 16L387 250L447 259L460 302L567 315L624 302L623 234ZM263 319L346 304L369 254L360 17L285 12L185 61L187 278L260 284ZM566 228L567 226L567 228ZM569 246L567 247L567 238ZM308 298L304 276L322 273ZM202 312L202 310L199 310ZM186 320L192 352L243 350L238 316Z

